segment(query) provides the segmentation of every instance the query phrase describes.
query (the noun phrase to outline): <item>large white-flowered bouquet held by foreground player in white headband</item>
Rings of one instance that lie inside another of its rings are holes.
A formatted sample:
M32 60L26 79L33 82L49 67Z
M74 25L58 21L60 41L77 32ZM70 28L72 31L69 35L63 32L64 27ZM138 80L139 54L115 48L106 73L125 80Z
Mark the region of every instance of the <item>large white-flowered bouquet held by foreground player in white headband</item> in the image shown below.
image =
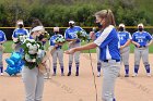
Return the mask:
M45 56L42 42L35 41L34 39L26 39L21 47L24 49L23 60L25 66L30 70L36 67Z

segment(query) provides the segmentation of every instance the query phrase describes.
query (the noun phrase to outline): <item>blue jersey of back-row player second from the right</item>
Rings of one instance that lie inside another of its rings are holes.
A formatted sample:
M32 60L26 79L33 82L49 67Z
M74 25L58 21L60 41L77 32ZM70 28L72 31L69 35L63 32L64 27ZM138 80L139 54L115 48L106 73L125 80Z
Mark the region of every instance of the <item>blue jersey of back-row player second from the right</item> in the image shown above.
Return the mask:
M128 31L118 31L119 35L119 40L120 40L120 46L123 46L129 39L131 40L132 37L130 35L130 33Z

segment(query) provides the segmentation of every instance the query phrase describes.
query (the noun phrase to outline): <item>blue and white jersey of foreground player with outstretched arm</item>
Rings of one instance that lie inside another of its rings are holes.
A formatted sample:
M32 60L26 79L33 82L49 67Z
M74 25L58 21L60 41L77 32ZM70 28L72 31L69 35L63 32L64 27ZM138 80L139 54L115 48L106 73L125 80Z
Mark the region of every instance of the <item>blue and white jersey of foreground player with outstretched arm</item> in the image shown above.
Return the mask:
M106 27L94 43L96 43L101 49L99 60L120 61L119 37L116 28L113 25Z

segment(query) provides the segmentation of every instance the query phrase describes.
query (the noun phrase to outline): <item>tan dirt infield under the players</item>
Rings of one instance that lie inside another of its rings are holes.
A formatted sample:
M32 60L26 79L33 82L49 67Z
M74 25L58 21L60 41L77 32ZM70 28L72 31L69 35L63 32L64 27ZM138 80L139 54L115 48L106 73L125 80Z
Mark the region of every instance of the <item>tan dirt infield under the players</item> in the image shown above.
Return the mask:
M4 54L4 59L9 54ZM94 72L96 74L96 54L92 54ZM150 54L151 67L153 67L153 54ZM5 63L4 63L5 65ZM64 68L68 73L68 55L64 55ZM52 71L52 70L51 70ZM90 65L89 54L81 54L80 76L75 77L75 67L73 66L72 76L58 75L51 79L45 80L43 101L95 101L94 80L92 67ZM130 54L130 76L133 72L133 54ZM123 67L120 71L121 76L116 83L117 101L153 101L153 77L146 77L145 70L141 62L138 77L125 78ZM96 77L98 101L102 94L102 78ZM0 77L0 101L24 101L24 87L20 76L10 77L8 75Z

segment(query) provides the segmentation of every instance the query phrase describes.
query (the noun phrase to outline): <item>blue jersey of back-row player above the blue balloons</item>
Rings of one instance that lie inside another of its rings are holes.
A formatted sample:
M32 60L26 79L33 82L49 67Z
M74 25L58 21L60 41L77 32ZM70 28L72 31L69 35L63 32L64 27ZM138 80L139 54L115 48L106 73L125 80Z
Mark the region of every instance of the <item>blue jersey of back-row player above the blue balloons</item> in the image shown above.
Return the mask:
M28 31L25 28L16 28L16 29L14 29L12 37L17 38L19 35L28 35Z

